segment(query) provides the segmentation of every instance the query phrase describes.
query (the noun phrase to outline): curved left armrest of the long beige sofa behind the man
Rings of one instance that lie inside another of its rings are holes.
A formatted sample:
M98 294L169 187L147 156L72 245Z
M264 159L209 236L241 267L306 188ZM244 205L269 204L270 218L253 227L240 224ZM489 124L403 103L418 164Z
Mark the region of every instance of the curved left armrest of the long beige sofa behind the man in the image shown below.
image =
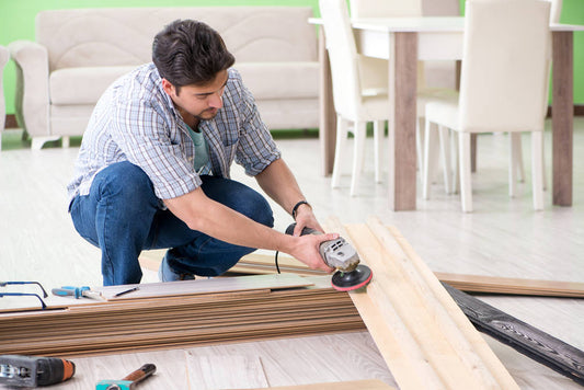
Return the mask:
M48 136L47 50L31 41L15 41L8 48L16 65L16 121L31 137Z

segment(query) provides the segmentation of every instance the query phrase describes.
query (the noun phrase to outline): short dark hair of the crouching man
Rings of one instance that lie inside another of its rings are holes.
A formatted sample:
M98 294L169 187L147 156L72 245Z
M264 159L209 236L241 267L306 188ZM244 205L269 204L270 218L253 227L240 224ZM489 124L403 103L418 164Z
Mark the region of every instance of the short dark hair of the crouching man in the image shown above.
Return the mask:
M152 61L161 77L179 92L181 87L203 85L215 80L221 70L236 61L225 42L207 24L176 20L154 37Z

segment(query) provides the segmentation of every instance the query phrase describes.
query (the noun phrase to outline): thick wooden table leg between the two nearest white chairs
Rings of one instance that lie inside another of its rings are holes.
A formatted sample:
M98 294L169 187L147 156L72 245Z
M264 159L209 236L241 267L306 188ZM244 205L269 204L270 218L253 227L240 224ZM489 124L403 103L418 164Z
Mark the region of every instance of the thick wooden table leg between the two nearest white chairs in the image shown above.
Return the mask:
M417 34L392 34L389 53L389 202L396 211L414 210Z

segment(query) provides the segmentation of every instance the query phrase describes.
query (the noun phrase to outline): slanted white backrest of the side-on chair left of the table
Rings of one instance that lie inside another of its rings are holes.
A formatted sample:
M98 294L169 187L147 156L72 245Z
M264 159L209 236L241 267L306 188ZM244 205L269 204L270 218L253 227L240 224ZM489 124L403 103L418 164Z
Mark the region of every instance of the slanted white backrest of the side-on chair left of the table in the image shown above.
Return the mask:
M354 118L362 96L357 48L346 1L320 0L319 7L331 64L334 107L344 117Z

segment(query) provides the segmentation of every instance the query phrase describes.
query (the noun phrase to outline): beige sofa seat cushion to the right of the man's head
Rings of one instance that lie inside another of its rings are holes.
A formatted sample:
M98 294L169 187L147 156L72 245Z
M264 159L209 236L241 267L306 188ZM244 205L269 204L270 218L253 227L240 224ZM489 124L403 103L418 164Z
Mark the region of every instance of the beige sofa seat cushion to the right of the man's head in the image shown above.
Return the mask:
M319 95L318 62L236 62L234 68L255 100Z

